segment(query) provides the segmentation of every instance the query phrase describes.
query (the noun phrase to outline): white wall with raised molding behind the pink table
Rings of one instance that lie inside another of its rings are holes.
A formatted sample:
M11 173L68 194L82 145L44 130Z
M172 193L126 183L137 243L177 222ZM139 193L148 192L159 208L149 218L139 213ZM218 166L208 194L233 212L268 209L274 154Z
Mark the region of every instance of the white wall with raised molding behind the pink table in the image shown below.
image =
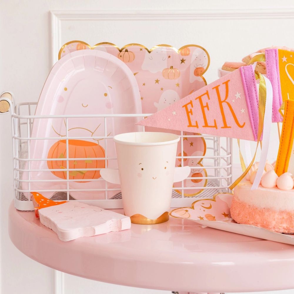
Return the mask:
M217 78L217 68L224 61L240 60L270 45L293 46L293 2L250 0L244 6L242 2L2 0L0 92L12 91L16 102L37 101L56 56L54 52L57 53L61 44L73 39L89 44L109 41L118 46L136 42L149 48L157 44L175 47L199 44L211 56L211 66L205 75L208 82ZM53 27L53 36L49 11L55 11L55 20L59 23ZM130 11L137 11L137 16ZM276 157L277 138L273 125L271 160ZM42 294L51 294L54 293L53 270L21 254L8 237L7 208L12 200L11 156L9 116L4 115L0 116L1 293L40 293L33 288L38 281L44 287ZM236 152L234 162L238 163ZM99 291L168 293L129 289L65 275L66 294Z

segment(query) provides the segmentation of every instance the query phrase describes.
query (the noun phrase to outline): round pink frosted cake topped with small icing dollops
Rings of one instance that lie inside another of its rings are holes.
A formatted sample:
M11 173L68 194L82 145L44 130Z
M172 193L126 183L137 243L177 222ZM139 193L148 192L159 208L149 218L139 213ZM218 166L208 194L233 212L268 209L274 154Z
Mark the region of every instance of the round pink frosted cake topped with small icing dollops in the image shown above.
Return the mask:
M234 189L230 213L237 223L255 225L279 233L294 233L294 181L290 173L280 177L267 163L259 187L250 190L255 163Z

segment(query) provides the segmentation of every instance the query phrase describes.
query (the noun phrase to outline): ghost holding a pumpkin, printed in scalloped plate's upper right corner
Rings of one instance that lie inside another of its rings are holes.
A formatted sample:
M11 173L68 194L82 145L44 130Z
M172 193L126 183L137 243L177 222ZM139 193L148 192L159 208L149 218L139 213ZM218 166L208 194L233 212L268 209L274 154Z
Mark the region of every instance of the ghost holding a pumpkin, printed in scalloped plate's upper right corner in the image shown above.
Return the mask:
M202 81L201 75L208 66L207 53L201 49L196 48L192 54L190 65L190 83L193 81Z

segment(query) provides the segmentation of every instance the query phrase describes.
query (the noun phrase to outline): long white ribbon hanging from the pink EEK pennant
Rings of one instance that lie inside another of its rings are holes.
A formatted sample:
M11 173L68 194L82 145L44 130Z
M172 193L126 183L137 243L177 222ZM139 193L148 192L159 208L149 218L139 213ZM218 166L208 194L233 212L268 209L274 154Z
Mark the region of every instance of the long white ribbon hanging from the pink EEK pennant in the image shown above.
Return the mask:
M266 86L266 101L265 101L265 113L263 121L263 139L262 139L262 149L260 153L260 160L258 165L258 170L256 173L255 180L252 184L251 190L258 188L260 183L262 173L265 168L266 158L268 156L268 146L270 142L270 125L272 123L272 110L273 110L273 88L270 80L263 76L265 79Z

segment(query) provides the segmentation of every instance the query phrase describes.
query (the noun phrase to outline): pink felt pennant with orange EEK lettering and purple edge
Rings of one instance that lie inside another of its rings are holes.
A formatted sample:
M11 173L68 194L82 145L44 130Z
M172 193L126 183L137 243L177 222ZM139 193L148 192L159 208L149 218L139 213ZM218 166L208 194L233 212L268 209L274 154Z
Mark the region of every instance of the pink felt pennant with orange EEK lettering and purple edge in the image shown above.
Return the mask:
M258 89L253 66L236 69L138 124L256 141Z

